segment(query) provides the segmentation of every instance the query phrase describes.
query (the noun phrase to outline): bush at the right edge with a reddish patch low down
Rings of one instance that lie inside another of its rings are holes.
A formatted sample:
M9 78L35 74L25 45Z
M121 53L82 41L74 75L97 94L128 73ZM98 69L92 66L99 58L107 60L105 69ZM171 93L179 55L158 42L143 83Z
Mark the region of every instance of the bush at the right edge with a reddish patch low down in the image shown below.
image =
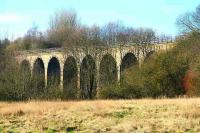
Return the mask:
M188 39L179 42L186 54L189 69L184 77L184 88L189 96L200 96L200 33L192 32Z

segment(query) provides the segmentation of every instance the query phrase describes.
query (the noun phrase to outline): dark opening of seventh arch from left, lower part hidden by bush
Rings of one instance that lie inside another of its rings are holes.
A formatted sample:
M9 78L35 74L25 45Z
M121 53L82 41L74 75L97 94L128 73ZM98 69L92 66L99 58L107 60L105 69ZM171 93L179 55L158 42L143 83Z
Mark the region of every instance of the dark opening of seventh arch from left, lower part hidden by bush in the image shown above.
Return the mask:
M124 58L122 59L122 63L121 63L121 71L124 71L125 69L128 69L134 65L136 65L137 62L137 58L135 57L135 55L133 53L127 53Z

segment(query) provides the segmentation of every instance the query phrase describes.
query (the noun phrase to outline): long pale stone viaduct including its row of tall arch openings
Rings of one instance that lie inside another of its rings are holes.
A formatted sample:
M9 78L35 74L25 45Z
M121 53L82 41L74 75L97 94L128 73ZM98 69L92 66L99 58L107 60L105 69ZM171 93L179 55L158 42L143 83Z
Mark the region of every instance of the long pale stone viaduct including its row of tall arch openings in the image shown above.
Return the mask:
M168 43L145 48L125 45L32 50L17 52L16 58L22 70L31 73L37 91L43 92L42 88L53 84L70 99L77 95L91 99L100 87L118 82L125 69L140 66L153 52L167 51L174 46Z

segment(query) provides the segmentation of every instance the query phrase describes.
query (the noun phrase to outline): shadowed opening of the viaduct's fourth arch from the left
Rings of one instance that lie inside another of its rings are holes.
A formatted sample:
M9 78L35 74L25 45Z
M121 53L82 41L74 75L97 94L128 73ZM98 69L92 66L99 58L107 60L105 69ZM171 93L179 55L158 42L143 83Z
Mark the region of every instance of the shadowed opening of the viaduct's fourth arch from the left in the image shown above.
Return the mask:
M67 58L63 70L63 95L65 99L75 99L77 96L77 65L73 57Z

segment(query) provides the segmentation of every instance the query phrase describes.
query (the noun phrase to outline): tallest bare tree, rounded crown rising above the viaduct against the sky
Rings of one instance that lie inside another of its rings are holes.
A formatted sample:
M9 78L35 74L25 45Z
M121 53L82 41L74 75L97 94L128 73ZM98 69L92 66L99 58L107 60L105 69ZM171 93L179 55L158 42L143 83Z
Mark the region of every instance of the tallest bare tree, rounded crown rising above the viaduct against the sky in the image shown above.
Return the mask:
M49 22L48 39L57 46L74 44L78 32L79 21L73 10L55 12Z

